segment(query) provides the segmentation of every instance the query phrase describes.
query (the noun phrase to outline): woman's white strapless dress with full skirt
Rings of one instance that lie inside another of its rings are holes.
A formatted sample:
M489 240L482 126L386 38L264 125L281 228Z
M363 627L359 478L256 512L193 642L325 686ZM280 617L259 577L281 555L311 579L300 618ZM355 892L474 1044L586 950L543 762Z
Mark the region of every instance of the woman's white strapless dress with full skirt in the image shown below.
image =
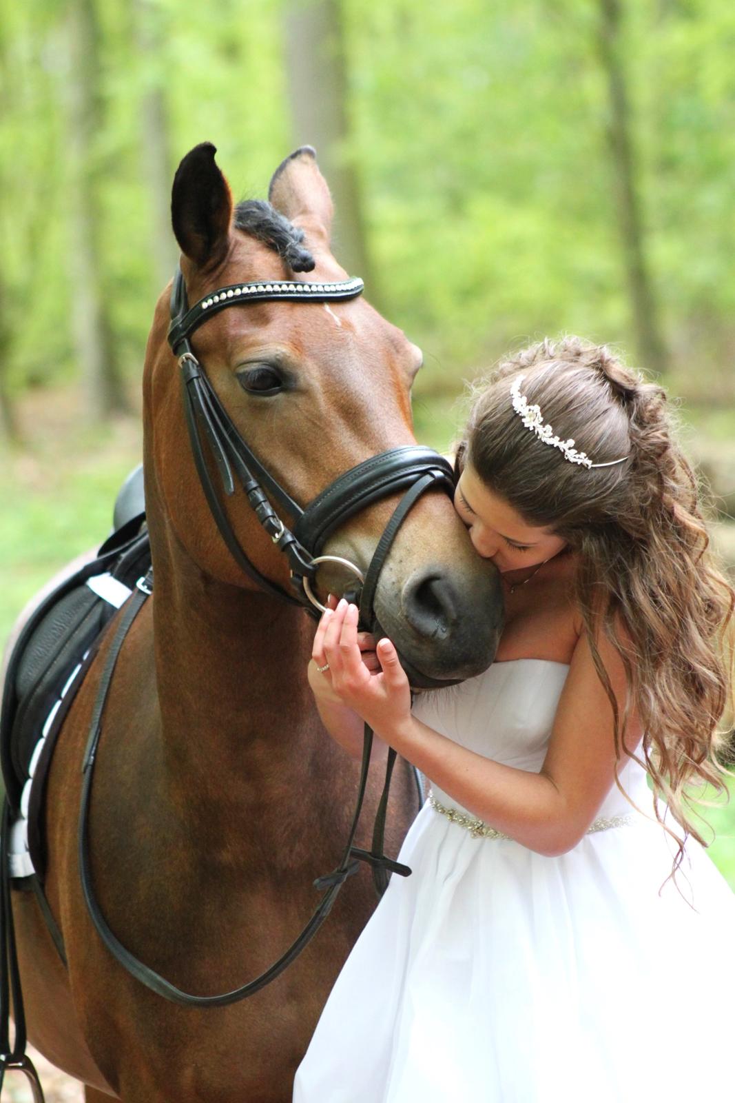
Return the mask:
M496 663L414 714L538 771L568 671ZM735 896L693 840L666 881L646 774L628 762L620 781L641 811L613 789L601 829L552 858L426 801L400 854L413 874L391 879L345 963L294 1103L735 1100Z

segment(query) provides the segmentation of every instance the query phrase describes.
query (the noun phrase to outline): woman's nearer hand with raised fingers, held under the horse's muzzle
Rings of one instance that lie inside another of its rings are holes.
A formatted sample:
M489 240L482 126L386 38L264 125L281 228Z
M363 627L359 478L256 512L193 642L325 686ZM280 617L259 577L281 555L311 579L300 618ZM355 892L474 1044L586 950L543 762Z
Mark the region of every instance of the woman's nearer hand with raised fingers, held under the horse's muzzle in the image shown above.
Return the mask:
M355 709L390 742L391 733L410 720L411 687L389 640L381 640L377 646L377 666L371 670L363 661L358 618L357 606L348 604L344 598L334 612L325 613L326 624L321 633L317 630L324 660L316 665L328 663L328 671L317 676L328 674L329 689L336 699Z

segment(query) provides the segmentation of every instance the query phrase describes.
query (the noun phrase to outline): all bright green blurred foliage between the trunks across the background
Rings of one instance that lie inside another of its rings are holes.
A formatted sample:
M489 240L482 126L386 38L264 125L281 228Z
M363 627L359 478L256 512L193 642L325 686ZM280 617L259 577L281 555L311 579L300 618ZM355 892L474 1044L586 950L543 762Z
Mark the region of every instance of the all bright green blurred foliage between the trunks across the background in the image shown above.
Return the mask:
M127 371L140 370L155 286L142 171L160 90L175 162L210 139L241 195L289 150L281 4L97 0L105 124L106 291ZM309 0L306 0L309 2ZM0 232L15 387L75 373L65 255L67 4L0 0ZM731 393L735 12L723 0L624 4L633 144L655 287L691 365ZM343 0L352 133L381 301L426 349L433 387L506 346L576 331L634 346L607 147L598 7ZM141 49L141 33L154 49ZM43 290L39 292L39 288ZM433 355L432 355L433 354ZM635 353L634 353L635 356Z

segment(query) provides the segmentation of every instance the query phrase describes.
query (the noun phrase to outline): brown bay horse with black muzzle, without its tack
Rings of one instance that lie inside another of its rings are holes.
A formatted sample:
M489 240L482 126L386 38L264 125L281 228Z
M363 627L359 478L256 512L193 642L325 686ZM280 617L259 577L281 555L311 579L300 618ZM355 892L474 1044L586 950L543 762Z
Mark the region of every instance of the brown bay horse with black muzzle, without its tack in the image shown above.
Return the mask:
M193 347L239 435L307 503L370 457L415 445L410 388L420 353L352 293L359 281L332 255L332 202L311 148L280 165L268 203L236 207L214 153L196 147L174 181L179 292L212 304L217 288L282 289L294 271L311 270L316 298L256 295L212 311ZM318 301L320 287L337 283L352 289L344 301ZM313 620L245 575L213 520L169 324L166 289L143 377L153 595L110 683L88 840L110 928L172 984L208 994L261 973L303 928L318 897L314 878L334 865L348 829L357 764L325 735L309 690ZM215 460L209 451L204 465L216 475ZM329 533L324 553L366 571L398 500L367 501ZM259 576L288 591L279 517L271 539L242 495L219 501ZM393 537L375 586L376 622L419 683L421 674L441 682L480 673L499 634L497 575L475 555L447 494L422 494ZM312 586L325 601L345 580L328 561ZM364 869L350 878L318 936L249 999L181 1006L122 968L85 907L77 853L82 761L114 632L115 622L64 719L47 780L45 893L66 966L36 897L12 893L30 1040L86 1085L87 1103L287 1103L329 987L375 908L372 885ZM367 817L380 785L370 772ZM401 763L390 853L415 811Z

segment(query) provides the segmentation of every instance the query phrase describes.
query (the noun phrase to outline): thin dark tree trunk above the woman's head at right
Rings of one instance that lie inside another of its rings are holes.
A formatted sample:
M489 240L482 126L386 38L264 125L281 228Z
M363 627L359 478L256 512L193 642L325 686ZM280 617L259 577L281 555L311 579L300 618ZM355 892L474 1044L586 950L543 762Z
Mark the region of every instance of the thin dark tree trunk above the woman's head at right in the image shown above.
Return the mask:
M599 0L598 45L607 77L608 140L620 245L638 351L646 367L652 372L663 372L669 358L646 257L641 203L630 139L630 107L623 63L620 0Z

